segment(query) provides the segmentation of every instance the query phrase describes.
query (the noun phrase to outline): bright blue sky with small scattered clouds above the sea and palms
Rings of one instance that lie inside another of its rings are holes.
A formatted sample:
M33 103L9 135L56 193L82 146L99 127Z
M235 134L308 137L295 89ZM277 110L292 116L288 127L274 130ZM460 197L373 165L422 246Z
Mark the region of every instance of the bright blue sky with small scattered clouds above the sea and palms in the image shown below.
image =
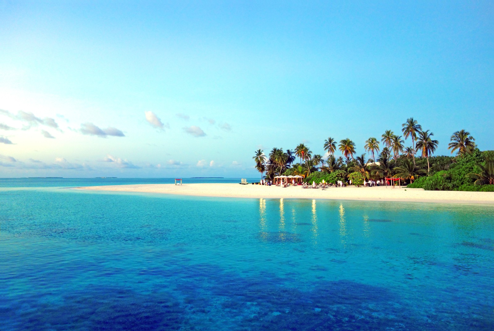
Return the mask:
M0 177L257 177L414 117L494 149L492 1L2 1ZM406 142L410 145L410 142Z

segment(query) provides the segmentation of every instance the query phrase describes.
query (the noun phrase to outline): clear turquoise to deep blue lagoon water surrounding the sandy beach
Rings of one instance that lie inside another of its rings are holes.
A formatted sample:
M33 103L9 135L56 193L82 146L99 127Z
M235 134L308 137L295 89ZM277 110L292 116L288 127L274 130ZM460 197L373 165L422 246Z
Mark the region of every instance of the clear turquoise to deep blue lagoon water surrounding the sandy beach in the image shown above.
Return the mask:
M492 206L26 181L0 180L2 331L494 330Z

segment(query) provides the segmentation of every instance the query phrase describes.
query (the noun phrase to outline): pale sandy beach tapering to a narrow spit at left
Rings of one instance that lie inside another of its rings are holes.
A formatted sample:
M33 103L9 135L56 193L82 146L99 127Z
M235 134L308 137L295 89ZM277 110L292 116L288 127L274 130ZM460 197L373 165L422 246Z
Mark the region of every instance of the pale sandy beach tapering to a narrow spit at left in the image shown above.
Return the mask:
M300 198L494 204L494 192L424 191L421 188L330 187L327 189L241 184L136 184L77 187L84 190L163 193L231 198Z

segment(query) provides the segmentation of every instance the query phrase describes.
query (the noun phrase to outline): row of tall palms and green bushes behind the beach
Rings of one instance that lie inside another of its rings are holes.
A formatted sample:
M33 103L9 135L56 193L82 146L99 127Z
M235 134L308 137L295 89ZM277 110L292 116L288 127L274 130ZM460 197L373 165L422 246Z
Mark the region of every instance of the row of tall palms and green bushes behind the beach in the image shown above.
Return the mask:
M261 179L264 175L267 180L273 180L276 175L299 175L308 182L352 178L357 184L366 179L400 178L411 187L424 189L494 190L481 187L494 184L494 151L481 152L470 133L459 130L453 133L448 145L456 156L433 156L439 144L433 136L411 117L402 124L400 135L386 130L380 140L375 137L366 140L364 148L371 155L369 159L365 153L355 156L355 143L349 138L338 143L331 137L323 144L329 155L326 160L320 154L313 154L305 144L293 150L274 147L267 156L258 149L253 159ZM408 139L411 146L405 146ZM341 156L335 155L337 150ZM462 170L453 172L458 167ZM480 186L473 187L474 184Z

